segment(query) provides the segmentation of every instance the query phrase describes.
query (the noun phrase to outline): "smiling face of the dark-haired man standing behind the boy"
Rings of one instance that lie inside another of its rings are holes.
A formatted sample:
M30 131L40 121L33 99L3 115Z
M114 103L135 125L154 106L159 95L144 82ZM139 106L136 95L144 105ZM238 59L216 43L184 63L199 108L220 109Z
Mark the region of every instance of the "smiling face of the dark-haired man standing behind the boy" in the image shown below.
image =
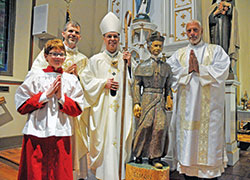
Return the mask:
M80 27L73 26L72 24L68 24L67 30L62 32L62 36L64 37L64 43L69 48L73 49L76 47L76 44L81 39L80 35Z

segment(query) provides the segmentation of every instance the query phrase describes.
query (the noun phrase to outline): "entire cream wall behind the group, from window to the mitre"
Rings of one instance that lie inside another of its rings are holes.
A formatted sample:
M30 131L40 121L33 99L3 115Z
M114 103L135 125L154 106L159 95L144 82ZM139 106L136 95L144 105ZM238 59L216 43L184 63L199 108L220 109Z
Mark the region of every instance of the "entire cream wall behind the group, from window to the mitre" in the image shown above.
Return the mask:
M64 0L36 0L36 5L49 4L49 24L53 34L61 38L61 32L65 23L66 3ZM78 49L87 57L92 56L101 49L102 35L99 24L108 9L107 0L73 0L70 4L72 19L81 24L82 39L78 43ZM0 76L1 86L8 86L9 92L0 92L4 96L4 104L11 113L13 120L0 126L0 140L5 137L20 136L27 116L16 112L14 95L17 87L23 82L29 70L30 51L30 29L31 29L32 1L16 1L16 24L14 42L13 76ZM34 37L33 58L39 54L47 40L40 40ZM1 121L1 119L0 119ZM1 141L2 142L2 141Z

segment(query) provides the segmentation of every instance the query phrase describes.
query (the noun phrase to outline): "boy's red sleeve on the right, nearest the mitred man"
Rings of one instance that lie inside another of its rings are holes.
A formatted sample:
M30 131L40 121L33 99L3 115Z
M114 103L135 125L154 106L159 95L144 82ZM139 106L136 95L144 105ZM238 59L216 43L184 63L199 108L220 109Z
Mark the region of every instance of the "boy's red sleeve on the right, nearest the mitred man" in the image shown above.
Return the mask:
M79 116L82 113L79 105L67 95L65 95L65 102L60 110L73 117Z

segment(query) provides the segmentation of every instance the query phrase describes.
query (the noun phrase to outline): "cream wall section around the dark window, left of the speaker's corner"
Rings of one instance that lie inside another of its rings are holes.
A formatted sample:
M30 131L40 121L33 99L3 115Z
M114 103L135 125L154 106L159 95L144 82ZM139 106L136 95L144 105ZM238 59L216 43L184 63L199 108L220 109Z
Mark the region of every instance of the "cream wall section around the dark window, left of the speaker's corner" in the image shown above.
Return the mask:
M16 112L14 95L18 83L23 81L28 72L31 7L32 1L16 1L13 76L0 76L1 80L6 80L9 83L0 84L1 86L9 87L9 92L0 92L0 96L5 97L5 106L10 111L13 120L0 126L0 138L20 135L27 119L26 116L21 116Z

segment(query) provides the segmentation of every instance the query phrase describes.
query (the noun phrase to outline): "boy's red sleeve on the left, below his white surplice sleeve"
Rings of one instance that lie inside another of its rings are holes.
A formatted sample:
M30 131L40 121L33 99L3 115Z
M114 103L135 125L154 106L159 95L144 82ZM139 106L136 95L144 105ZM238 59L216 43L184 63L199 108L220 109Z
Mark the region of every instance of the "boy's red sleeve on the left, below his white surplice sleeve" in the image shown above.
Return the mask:
M39 102L42 92L32 96L27 101L25 101L22 106L18 108L18 112L21 114L31 113L39 108L44 107L45 103Z

